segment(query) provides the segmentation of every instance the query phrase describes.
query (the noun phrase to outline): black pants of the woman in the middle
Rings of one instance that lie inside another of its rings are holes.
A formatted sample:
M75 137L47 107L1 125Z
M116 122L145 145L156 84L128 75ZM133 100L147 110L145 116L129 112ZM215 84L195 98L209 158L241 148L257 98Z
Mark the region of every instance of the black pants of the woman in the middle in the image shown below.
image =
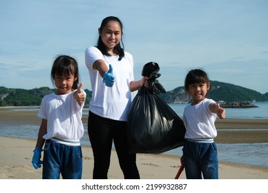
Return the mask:
M93 179L108 178L113 143L124 179L139 179L136 154L129 154L128 151L126 121L105 119L89 112L87 130L94 156Z

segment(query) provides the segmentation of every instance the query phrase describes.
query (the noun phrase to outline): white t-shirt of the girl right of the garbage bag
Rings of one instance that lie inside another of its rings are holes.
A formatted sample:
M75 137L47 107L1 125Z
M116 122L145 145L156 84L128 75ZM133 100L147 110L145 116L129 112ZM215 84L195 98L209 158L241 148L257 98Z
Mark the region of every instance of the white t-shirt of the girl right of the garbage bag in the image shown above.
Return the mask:
M183 112L183 121L186 123L185 139L214 139L217 135L214 122L216 113L210 112L208 106L215 103L212 99L204 99L197 105L187 105Z

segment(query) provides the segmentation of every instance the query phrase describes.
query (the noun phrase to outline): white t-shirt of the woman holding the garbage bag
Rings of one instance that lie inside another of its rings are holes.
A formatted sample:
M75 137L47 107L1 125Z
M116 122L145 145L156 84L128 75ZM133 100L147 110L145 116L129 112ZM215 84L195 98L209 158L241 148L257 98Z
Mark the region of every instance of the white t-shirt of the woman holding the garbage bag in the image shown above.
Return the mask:
M85 64L89 70L92 88L92 99L89 110L98 116L117 121L127 121L131 107L131 90L129 83L134 80L133 57L129 52L124 52L124 57L118 61L119 56L107 57L96 47L85 50ZM107 67L113 66L115 83L107 87L102 83L98 70L93 69L93 63L98 59L105 61Z

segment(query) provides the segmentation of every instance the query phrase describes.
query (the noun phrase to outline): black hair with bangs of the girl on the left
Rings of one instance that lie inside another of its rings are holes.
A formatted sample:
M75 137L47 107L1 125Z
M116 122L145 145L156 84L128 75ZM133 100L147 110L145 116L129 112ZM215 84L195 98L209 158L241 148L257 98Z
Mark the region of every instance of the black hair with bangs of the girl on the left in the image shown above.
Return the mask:
M74 74L74 77L77 79L76 81L74 81L72 89L76 90L78 88L79 71L78 71L78 63L76 59L69 57L67 55L58 56L52 65L52 70L50 74L52 83L54 83L56 74L58 76L61 76L63 74L67 76L70 74Z

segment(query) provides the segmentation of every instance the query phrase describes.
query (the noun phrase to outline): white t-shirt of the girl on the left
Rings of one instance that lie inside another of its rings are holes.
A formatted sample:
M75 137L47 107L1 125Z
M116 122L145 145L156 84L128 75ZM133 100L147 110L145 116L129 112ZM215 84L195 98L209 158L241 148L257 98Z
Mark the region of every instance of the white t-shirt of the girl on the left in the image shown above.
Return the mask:
M58 139L79 141L84 134L82 125L82 105L78 105L73 97L73 92L69 94L57 95L47 94L43 97L38 117L47 120L47 134L43 139ZM84 94L85 91L83 91Z

